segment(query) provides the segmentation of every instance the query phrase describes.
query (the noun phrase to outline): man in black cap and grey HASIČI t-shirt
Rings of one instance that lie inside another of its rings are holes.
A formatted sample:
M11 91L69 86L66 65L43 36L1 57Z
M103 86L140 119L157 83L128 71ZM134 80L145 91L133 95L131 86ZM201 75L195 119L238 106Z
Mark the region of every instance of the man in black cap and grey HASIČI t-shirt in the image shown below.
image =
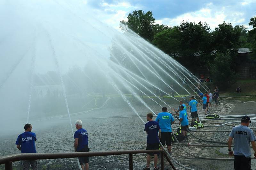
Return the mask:
M241 119L241 125L233 127L229 138L228 138L228 154L233 156L235 170L251 170L251 146L254 150L254 158L256 158L256 143L255 135L252 129L248 128L251 123L249 116L243 116ZM234 152L232 151L231 145L232 140L235 139Z

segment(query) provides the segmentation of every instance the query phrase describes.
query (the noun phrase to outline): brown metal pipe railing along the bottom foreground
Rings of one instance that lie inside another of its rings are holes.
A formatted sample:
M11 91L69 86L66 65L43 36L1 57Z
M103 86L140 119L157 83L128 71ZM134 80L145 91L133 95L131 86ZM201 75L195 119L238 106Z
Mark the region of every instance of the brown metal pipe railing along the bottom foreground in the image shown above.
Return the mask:
M164 170L164 157L167 159L172 169L176 170L171 160L163 150L128 150L128 151L106 151L106 152L64 152L64 153L20 153L0 157L0 165L5 164L5 170L12 170L12 162L20 160L35 160L35 159L63 159L63 158L78 158L92 156L108 156L108 155L129 155L129 169L133 169L132 154L139 153L161 153L161 170Z

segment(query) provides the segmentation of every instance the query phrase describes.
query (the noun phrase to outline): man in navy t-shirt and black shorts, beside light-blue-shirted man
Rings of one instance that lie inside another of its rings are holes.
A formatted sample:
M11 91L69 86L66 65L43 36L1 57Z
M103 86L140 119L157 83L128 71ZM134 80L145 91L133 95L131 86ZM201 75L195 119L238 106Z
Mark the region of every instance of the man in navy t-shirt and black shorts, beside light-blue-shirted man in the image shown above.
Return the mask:
M159 138L161 138L161 128L158 124L158 122L153 121L153 114L148 113L147 114L147 120L148 123L145 124L144 131L148 134L148 140L147 140L147 150L151 149L159 149ZM147 166L144 167L144 170L150 170L150 153L147 154ZM159 169L157 166L157 153L154 153L154 169Z

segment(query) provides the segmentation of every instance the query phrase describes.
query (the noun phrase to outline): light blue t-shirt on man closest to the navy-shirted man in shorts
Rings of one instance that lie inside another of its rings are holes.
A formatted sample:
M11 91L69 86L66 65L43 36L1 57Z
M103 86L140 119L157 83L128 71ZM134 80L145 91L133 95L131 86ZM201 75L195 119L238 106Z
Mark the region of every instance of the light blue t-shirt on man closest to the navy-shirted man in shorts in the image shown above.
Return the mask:
M172 124L174 121L172 114L168 112L158 113L156 117L156 122L159 123L162 132L172 132Z

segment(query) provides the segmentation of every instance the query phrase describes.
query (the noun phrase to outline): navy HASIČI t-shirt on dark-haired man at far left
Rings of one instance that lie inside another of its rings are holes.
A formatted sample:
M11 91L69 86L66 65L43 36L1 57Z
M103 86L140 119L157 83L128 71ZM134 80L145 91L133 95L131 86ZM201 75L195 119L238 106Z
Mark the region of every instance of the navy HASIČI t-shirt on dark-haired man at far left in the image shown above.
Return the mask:
M21 133L16 141L21 147L21 153L36 153L36 134L33 132Z

